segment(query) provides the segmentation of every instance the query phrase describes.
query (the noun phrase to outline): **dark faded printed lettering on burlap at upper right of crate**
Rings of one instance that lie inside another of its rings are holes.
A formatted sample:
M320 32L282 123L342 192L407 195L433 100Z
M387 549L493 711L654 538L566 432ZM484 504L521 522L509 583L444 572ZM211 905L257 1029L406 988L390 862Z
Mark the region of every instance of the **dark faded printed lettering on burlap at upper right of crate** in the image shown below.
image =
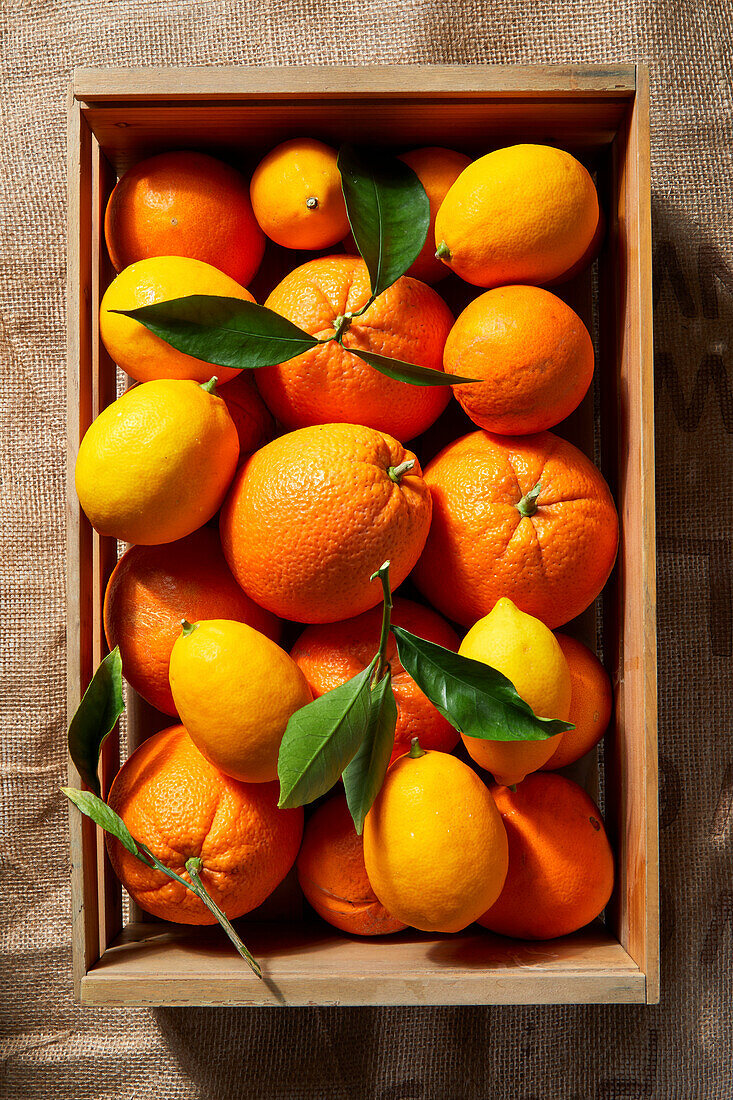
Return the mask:
M689 361L697 358L697 370L691 387L682 381L678 365L678 350L659 350L655 353L654 363L659 385L670 403L671 411L681 431L694 432L703 420L709 396L714 397L723 428L733 435L733 388L729 370L730 346L727 327L731 323L730 311L733 308L733 272L727 267L721 253L711 244L701 244L697 256L696 294L690 285L691 278L685 272L674 242L660 241L654 254L654 306L657 309L665 285L671 292L678 311L682 318L693 320L703 318L718 326L705 326L704 346L697 348L692 339L679 344L678 326L672 327L681 354ZM723 305L720 290L725 294ZM665 327L667 329L668 327ZM661 329L661 326L658 327ZM689 397L686 397L686 387Z

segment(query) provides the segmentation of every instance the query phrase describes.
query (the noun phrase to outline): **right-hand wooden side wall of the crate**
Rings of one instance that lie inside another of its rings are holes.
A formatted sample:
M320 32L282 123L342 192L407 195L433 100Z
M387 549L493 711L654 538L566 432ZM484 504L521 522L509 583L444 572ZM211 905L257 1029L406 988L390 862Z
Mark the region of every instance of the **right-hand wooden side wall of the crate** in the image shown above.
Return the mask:
M621 546L605 632L616 668L615 736L606 739L608 816L617 866L612 914L621 943L659 999L654 358L648 80L613 150L617 210L603 265L604 404L617 424L604 465L620 505ZM613 316L612 316L613 315ZM615 320L614 320L615 318ZM612 369L615 361L615 370Z

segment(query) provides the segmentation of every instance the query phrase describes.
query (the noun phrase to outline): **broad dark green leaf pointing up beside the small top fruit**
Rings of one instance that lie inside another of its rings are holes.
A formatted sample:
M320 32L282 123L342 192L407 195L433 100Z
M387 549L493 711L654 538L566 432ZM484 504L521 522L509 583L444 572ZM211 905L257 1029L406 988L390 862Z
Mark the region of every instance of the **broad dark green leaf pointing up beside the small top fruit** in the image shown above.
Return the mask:
M413 169L396 156L342 145L338 166L351 232L376 297L419 255L430 204Z

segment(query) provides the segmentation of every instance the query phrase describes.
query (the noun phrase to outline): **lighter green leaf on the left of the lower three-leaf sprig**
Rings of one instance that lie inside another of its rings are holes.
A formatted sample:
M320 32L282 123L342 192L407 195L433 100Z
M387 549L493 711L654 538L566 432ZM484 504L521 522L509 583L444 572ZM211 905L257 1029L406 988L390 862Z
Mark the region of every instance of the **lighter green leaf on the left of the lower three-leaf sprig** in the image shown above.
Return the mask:
M281 809L304 806L330 791L369 725L374 662L291 717L277 758Z

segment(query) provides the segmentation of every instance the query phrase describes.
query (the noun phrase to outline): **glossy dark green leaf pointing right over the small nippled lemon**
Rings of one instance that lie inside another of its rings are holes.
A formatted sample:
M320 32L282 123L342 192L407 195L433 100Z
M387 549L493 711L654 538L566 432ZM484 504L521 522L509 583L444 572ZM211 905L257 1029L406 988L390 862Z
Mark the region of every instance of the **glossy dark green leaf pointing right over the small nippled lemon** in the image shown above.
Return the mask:
M456 729L489 741L543 741L576 727L540 718L496 669L393 626L404 668Z

